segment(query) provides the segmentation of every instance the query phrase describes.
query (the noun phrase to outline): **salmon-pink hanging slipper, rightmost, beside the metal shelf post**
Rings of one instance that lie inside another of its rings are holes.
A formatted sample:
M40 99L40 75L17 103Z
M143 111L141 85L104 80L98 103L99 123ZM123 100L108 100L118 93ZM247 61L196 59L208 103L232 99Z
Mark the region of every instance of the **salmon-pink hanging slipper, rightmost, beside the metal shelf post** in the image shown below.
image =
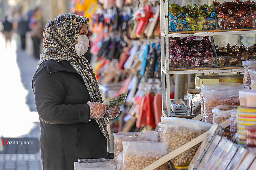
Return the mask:
M160 94L156 94L153 101L154 106L154 114L155 114L155 124L158 125L161 122L162 113L162 96Z

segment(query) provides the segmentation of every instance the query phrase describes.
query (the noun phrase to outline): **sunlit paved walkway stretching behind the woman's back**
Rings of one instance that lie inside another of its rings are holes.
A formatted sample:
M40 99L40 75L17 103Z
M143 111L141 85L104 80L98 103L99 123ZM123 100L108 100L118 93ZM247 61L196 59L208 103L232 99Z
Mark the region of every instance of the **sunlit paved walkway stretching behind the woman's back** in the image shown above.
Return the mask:
M40 124L31 87L38 60L20 48L18 35L5 49L0 34L0 137L36 137ZM0 170L42 170L41 154L0 154Z

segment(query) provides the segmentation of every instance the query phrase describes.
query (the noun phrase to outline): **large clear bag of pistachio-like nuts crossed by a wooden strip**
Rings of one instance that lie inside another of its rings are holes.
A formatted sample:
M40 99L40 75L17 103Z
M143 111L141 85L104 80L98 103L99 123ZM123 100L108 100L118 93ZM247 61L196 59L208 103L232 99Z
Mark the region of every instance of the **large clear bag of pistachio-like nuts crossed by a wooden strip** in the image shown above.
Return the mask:
M161 122L165 123L164 143L167 153L195 139L211 127L210 123L177 117L161 117ZM188 166L199 146L200 143L176 156L170 163L174 166Z

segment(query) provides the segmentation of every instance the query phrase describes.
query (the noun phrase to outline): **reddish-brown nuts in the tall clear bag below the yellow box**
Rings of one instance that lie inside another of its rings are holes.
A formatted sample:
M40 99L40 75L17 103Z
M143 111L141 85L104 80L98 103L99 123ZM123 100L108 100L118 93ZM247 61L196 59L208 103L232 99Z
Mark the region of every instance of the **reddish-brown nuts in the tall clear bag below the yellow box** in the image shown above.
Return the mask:
M205 121L212 124L212 121L213 121L212 109L214 109L216 106L220 106L220 105L239 106L239 104L240 103L239 103L238 97L223 97L223 98L214 97L211 100L205 101L204 103Z

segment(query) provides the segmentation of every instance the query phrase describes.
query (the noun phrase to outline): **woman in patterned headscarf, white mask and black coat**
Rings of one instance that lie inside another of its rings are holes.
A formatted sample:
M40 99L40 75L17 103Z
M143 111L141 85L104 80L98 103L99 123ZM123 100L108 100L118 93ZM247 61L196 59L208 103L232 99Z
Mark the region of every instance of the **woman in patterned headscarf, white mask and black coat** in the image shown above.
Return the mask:
M41 125L44 170L73 170L78 159L108 158L108 118L120 107L102 103L94 72L83 56L89 19L62 14L44 29L44 53L33 77Z

